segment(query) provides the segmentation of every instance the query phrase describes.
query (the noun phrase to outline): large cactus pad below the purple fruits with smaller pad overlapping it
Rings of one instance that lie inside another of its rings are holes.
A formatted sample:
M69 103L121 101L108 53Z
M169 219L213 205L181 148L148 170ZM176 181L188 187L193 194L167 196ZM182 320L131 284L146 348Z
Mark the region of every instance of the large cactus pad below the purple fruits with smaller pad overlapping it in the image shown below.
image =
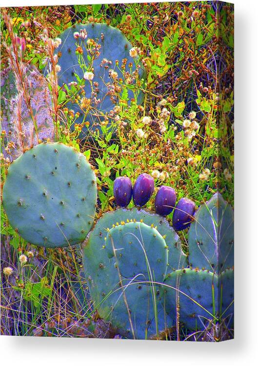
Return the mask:
M95 308L121 334L133 337L122 289L136 338L144 339L170 324L158 296L159 284L167 271L187 262L178 235L162 216L136 207L105 213L83 243L83 264Z

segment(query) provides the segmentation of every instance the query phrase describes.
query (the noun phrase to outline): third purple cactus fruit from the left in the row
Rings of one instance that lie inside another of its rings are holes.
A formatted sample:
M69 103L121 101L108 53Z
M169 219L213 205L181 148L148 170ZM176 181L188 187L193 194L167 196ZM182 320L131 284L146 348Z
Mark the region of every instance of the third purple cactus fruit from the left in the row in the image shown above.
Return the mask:
M155 198L155 210L161 216L169 215L176 204L176 191L167 185L161 185Z

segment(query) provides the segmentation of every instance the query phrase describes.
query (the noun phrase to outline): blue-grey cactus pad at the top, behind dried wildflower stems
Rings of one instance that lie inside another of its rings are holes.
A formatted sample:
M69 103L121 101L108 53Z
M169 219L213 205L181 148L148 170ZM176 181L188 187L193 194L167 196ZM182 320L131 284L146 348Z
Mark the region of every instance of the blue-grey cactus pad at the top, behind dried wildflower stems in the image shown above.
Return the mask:
M93 39L101 45L100 55L93 61L92 64L94 68L94 79L92 82L98 83L99 92L97 93L96 98L100 99L100 104L96 108L90 110L87 116L87 121L90 122L90 126L88 128L93 132L96 130L96 128L99 128L99 121L103 120L103 116L101 116L101 114L108 114L113 109L115 106L114 103L116 102L113 101L108 95L108 85L112 85L112 79L110 79L109 71L105 68L105 66L108 65L109 69L114 69L115 72L118 73L118 80L119 78L123 79L122 73L119 70L122 66L123 59L127 59L128 61L126 65L126 71L129 71L128 63L131 62L133 64L132 72L136 70L136 66L135 60L130 56L129 53L132 45L129 41L127 41L119 29L109 26L106 23L73 25L70 28L67 28L59 36L62 40L62 43L57 49L58 55L61 55L59 58L59 64L62 70L59 78L60 86L62 86L64 83L68 84L71 81L77 81L75 74L79 75L80 78L83 77L83 71L78 64L78 57L75 53L77 46L76 40L74 38L74 33L79 33L79 31L82 29L85 29L87 32L87 40ZM84 49L84 51L85 43L81 44L81 47ZM111 64L107 63L102 65L101 62L103 59L112 62ZM116 60L119 61L119 68L116 66ZM143 66L141 65L139 69L139 78L141 79L142 77ZM84 90L85 97L91 98L92 89L88 81L85 82ZM134 94L131 90L128 91L128 98L134 98ZM139 101L140 98L142 98L142 93L139 95ZM75 112L81 112L78 104L68 103L67 106L74 109ZM83 117L84 114L82 113L76 122L81 123L83 121ZM82 131L81 138L88 134L88 129L86 127L84 127Z

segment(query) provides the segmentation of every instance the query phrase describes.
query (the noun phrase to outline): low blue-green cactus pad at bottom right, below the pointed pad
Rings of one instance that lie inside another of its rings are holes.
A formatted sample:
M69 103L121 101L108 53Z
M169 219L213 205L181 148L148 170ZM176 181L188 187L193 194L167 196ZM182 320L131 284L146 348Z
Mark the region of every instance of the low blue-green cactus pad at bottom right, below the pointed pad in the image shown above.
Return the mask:
M164 281L166 311L176 325L203 329L218 312L218 276L207 270L179 269Z

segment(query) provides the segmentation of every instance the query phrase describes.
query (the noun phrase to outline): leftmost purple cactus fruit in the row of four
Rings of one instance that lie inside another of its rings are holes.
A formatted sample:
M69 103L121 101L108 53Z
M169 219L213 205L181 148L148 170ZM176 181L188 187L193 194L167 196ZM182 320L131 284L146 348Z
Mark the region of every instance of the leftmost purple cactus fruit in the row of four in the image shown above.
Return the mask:
M119 177L114 182L114 197L118 206L126 207L131 201L133 186L130 178Z

